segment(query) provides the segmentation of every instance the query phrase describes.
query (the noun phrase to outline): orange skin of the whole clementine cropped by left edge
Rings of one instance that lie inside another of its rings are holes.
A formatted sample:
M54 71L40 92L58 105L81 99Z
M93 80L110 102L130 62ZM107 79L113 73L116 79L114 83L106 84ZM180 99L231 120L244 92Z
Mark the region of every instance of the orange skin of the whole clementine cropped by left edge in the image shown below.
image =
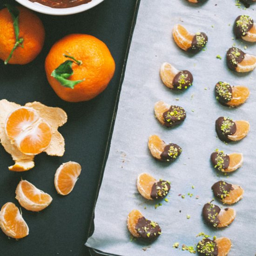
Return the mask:
M35 59L42 50L45 30L41 20L30 10L17 7L19 15L19 38L23 38L23 48L17 47L9 64L27 64ZM5 61L15 44L13 19L7 8L0 10L0 59Z

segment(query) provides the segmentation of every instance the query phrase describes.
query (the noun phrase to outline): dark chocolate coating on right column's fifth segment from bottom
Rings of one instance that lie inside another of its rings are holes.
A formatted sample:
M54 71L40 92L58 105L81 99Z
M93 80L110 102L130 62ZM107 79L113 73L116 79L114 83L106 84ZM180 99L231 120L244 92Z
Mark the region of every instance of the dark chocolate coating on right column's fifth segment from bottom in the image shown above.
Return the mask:
M216 133L220 140L230 141L228 135L233 135L236 132L236 123L227 117L219 117L216 120Z

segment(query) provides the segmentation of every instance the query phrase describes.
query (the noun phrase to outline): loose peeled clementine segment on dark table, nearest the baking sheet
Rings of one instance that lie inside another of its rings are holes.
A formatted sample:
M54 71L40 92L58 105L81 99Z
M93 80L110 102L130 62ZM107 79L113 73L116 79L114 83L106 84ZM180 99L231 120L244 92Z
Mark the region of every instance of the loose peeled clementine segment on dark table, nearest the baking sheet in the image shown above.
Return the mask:
M77 162L61 164L54 176L54 186L61 195L69 194L73 189L78 176L81 174L81 165Z

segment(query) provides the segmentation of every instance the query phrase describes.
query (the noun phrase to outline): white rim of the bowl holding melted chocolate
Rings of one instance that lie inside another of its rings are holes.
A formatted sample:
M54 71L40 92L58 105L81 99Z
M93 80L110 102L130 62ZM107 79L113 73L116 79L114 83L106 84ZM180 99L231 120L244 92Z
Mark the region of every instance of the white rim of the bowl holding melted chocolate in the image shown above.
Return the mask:
M69 14L81 13L83 11L86 11L98 5L103 0L92 0L87 4L82 4L82 5L71 7L71 8L51 8L45 5L41 5L37 2L33 3L29 0L16 0L16 1L21 5L39 13L45 13L45 14L51 14L51 15L69 15Z

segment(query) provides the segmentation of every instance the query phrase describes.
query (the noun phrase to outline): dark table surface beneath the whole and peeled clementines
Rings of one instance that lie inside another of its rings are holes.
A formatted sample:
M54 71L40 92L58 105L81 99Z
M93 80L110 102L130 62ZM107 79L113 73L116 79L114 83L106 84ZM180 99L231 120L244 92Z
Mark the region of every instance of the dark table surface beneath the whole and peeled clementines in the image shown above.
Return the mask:
M11 1L0 0L0 6L6 2ZM22 209L30 229L29 236L16 241L0 231L1 256L89 255L84 243L93 214L135 4L135 0L105 0L99 6L75 15L38 14L46 29L46 41L36 60L25 66L4 66L0 61L0 99L19 104L40 101L63 108L68 116L67 123L59 128L66 142L63 157L43 153L35 157L33 169L11 172L7 167L13 160L0 146L0 206L14 202L20 207L15 199L15 189L21 177L53 197L51 205L39 213ZM44 60L50 47L56 40L73 33L92 34L103 40L116 62L115 76L108 88L88 102L62 101L49 86L44 71ZM67 161L79 162L82 171L73 192L61 196L54 188L54 174L61 163Z

